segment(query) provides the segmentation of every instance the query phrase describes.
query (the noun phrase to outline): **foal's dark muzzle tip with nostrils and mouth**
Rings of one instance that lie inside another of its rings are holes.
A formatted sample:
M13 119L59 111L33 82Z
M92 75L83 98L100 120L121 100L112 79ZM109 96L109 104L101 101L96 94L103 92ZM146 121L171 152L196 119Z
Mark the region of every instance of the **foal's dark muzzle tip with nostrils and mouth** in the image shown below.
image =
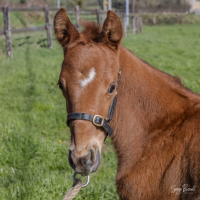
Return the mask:
M91 148L82 157L77 157L74 151L69 150L70 166L78 173L89 174L95 172L100 165L100 152Z

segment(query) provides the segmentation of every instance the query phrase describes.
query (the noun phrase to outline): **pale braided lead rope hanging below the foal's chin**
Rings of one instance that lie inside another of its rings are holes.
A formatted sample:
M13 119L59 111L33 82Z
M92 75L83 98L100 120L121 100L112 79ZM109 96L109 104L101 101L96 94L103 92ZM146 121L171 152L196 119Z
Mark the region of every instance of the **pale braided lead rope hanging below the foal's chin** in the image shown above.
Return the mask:
M68 190L68 192L66 193L66 195L65 195L63 200L72 200L74 197L76 197L76 195L80 191L81 187L82 187L81 179L77 179L76 178L74 184Z

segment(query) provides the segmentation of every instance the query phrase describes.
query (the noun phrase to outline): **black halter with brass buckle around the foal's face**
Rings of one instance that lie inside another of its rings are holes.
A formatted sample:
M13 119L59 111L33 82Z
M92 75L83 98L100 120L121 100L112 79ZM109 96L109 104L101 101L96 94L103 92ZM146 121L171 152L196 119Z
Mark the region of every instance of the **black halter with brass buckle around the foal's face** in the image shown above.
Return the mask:
M118 84L119 84L120 74L121 74L121 68L119 67L118 80L117 80ZM87 113L69 113L67 115L67 125L69 126L70 120L76 120L76 119L87 120L87 121L92 122L97 127L102 127L106 131L107 134L113 135L113 129L110 127L109 122L112 120L114 116L116 104L117 104L117 94L115 94L115 97L112 100L111 105L109 106L108 115L106 119L104 119L100 115L91 115Z

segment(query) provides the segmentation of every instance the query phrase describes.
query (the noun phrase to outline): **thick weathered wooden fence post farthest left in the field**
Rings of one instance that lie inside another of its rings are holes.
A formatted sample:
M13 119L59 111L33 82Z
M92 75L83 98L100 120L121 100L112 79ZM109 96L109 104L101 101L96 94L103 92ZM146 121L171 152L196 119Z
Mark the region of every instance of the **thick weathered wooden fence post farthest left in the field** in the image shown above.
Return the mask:
M4 33L6 36L6 48L7 48L7 55L9 57L13 57L12 54L12 42L11 42L11 32L10 32L10 16L9 16L9 7L3 7L3 15L4 15Z

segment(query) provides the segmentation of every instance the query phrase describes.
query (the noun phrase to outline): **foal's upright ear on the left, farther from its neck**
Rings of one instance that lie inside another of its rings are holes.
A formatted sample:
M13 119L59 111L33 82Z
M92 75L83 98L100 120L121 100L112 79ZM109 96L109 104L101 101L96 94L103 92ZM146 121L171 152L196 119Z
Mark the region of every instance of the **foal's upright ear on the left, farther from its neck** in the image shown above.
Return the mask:
M64 8L61 8L54 17L54 31L63 47L79 38L79 32L69 20Z

